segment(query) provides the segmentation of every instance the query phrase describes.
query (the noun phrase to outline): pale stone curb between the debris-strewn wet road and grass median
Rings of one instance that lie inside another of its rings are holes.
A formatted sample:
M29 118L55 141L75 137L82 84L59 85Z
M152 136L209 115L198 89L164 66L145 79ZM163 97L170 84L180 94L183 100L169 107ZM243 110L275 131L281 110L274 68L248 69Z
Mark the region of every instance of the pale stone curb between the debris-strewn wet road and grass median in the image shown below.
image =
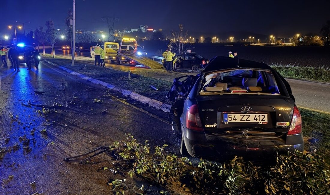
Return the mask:
M135 101L141 102L143 104L149 105L150 107L155 108L157 110L161 110L161 111L163 111L165 113L169 113L170 112L171 105L169 105L169 104L165 104L163 102L160 102L158 100L155 100L155 99L152 99L152 98L143 96L143 95L141 95L139 93L130 91L128 89L123 89L123 88L118 87L116 85L113 85L113 84L110 84L110 83L107 83L107 82L103 82L103 81L94 79L92 77L88 77L88 76L83 75L81 73L72 71L72 70L67 69L67 68L65 68L63 66L60 66L58 64L55 64L55 63L53 63L53 62L51 62L49 60L44 59L43 61L49 63L50 65L57 66L58 68L60 68L60 69L62 69L64 71L70 73L71 75L75 75L75 76L77 76L77 77L79 77L79 78L81 78L83 80L90 81L92 83L101 85L103 87L106 87L108 89L114 90L116 92L120 92L120 93L122 93L122 95L124 95L126 97L129 97L132 100L135 100Z

